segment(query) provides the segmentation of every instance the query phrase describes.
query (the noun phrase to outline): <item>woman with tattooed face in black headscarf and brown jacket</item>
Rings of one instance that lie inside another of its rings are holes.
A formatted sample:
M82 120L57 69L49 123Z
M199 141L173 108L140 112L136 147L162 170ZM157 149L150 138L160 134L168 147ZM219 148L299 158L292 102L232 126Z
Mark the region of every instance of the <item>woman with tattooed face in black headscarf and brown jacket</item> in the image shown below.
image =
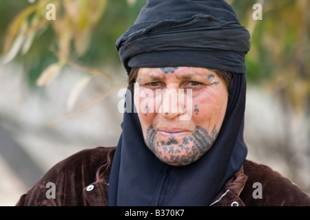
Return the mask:
M134 92L118 146L56 164L17 205L309 206L245 159L249 37L225 1L147 1L116 42Z

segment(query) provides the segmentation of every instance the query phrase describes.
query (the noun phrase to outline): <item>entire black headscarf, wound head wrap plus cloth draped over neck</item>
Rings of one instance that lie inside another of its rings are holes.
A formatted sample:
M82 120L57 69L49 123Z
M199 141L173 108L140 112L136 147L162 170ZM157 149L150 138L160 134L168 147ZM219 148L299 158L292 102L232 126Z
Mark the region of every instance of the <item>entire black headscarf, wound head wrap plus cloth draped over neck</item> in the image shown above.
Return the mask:
M247 155L243 141L249 33L225 1L149 0L116 42L131 67L192 66L233 74L225 119L198 161L169 166L147 148L138 115L125 112L110 174L109 206L208 206ZM134 103L126 96L126 103Z

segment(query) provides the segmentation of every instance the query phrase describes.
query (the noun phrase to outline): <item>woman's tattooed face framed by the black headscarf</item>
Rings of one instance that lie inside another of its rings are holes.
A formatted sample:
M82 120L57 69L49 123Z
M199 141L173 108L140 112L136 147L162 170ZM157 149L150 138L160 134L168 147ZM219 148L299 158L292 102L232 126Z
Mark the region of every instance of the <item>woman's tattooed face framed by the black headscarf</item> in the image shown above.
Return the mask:
M224 80L201 67L140 68L134 85L145 144L174 166L195 162L214 144L227 100Z

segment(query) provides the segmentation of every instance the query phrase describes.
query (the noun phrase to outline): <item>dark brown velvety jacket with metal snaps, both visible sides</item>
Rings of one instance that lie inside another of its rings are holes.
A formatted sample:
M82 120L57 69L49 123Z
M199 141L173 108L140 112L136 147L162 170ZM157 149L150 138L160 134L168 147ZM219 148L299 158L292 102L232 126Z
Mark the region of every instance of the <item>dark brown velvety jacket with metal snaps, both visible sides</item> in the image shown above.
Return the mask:
M115 147L98 147L64 159L22 195L17 206L107 206L114 152ZM310 206L310 197L268 166L246 160L211 206Z

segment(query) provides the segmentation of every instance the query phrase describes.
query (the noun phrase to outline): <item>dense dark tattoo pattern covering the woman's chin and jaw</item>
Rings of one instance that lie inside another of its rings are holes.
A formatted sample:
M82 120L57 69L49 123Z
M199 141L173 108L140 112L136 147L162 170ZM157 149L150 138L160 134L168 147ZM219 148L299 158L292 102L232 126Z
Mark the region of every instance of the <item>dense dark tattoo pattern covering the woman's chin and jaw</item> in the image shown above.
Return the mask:
M157 140L157 131L153 126L147 128L145 144L158 159L174 166L185 166L202 157L214 144L218 131L214 126L209 134L203 127L196 126L190 135L183 137L182 143L178 142L174 135L168 137L168 141Z

